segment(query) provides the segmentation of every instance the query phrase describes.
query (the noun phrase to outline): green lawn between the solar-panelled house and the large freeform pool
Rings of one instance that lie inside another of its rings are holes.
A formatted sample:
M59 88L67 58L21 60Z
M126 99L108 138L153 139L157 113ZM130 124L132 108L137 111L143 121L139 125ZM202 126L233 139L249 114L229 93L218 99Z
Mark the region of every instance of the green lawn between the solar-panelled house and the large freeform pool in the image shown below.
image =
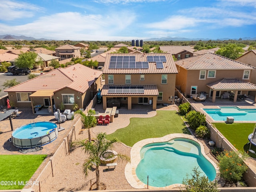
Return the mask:
M156 111L156 116L150 118L130 118L126 128L118 129L107 135L108 139L118 138L120 142L133 146L146 138L163 137L172 133L190 134L176 111Z

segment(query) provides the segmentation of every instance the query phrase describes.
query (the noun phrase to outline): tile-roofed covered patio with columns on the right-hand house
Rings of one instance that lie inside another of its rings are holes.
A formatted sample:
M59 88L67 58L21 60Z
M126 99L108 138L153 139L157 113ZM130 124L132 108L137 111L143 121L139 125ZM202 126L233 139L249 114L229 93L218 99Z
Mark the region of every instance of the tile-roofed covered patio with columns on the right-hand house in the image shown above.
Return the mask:
M255 84L236 78L224 78L222 80L209 83L206 86L213 90L212 102L216 101L217 92L234 92L234 95L229 96L229 98L233 99L233 102L236 102L238 99L238 94L244 95L248 94L249 91L256 91ZM254 103L255 102L256 97L254 99Z

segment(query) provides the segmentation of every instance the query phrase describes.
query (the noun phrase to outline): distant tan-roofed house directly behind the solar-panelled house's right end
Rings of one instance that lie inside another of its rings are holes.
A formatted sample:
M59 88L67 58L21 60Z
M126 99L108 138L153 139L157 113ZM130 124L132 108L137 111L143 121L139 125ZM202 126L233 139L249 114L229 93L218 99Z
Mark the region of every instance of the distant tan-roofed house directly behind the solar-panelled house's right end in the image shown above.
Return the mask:
M174 55L178 60L193 56L190 46L159 46L159 50Z

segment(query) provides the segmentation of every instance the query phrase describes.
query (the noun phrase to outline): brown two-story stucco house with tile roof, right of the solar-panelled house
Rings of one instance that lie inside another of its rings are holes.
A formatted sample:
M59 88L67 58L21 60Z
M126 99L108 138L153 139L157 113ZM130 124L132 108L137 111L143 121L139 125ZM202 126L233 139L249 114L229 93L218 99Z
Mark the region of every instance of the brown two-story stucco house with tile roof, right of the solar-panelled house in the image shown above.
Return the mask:
M239 94L256 90L256 85L250 83L254 67L214 53L178 60L175 64L176 86L186 95L206 92L215 102L223 92L232 92L236 102Z

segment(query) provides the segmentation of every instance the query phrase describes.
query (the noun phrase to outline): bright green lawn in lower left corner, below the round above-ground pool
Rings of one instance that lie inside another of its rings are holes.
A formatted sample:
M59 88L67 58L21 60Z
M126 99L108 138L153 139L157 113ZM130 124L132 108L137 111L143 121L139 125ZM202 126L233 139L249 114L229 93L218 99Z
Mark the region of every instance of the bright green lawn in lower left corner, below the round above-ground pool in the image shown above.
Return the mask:
M47 155L0 155L0 181L10 181L7 185L0 184L0 190L22 189L18 182L29 181ZM16 182L16 184L15 184Z

